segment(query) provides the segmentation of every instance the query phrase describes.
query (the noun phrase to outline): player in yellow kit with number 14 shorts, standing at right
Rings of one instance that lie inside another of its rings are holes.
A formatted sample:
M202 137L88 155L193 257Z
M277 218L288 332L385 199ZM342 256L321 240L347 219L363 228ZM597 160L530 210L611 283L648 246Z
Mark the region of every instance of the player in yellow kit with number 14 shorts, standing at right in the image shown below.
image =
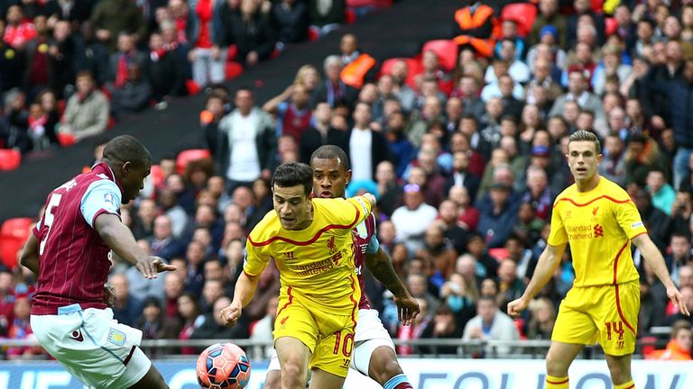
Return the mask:
M688 309L633 200L623 188L596 173L602 160L596 135L573 132L566 158L575 184L556 197L548 245L522 297L508 303L508 313L517 316L527 308L553 276L569 243L576 276L573 288L560 303L551 334L546 388L568 389L568 367L585 345L598 341L604 348L614 389L633 389L631 357L640 288L631 241L666 286L671 302L687 315Z

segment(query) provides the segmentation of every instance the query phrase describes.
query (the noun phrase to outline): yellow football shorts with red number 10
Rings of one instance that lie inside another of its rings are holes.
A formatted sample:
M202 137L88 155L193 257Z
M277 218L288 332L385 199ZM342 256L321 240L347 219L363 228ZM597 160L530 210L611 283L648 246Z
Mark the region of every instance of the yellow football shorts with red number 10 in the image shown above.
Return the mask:
M283 337L299 339L310 349L309 369L319 368L346 377L354 350L357 312L338 315L308 309L296 299L280 301L274 321L274 341Z

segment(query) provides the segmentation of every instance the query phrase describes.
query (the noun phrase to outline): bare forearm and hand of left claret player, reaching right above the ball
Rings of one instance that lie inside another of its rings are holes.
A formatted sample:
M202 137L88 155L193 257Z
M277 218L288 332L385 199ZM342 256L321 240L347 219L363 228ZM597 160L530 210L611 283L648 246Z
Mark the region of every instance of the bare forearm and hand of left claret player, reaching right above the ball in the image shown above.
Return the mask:
M134 240L133 233L113 213L99 214L94 221L94 229L115 254L137 267L146 278L156 278L157 273L176 269L162 258L147 256Z

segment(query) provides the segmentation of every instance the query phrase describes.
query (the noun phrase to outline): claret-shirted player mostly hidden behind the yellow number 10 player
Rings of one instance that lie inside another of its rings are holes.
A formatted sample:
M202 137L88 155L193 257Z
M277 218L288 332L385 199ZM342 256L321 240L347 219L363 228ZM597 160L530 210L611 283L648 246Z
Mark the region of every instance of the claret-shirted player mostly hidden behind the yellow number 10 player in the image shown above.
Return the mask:
M321 198L340 198L351 179L347 154L337 146L321 146L313 152L310 167L313 172L313 195ZM375 237L375 218L372 214L354 229L358 251L356 251L356 275L361 285L361 300L358 304L358 325L356 326L356 348L351 367L381 384L385 389L407 389L411 384L403 374L402 367L394 352L393 340L383 328L378 311L371 309L365 295L362 267L365 266L390 292L397 304L398 316L406 325L419 313L419 303L411 297L402 281L394 272L392 261L380 248ZM265 389L279 389L279 360L272 357L267 367Z

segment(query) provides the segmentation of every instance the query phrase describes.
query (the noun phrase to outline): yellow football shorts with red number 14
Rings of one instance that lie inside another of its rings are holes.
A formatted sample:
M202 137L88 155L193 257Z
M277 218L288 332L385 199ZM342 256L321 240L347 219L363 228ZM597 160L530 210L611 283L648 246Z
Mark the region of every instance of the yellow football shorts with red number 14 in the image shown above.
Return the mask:
M593 345L605 354L633 354L640 311L638 282L574 287L560 303L551 340Z

